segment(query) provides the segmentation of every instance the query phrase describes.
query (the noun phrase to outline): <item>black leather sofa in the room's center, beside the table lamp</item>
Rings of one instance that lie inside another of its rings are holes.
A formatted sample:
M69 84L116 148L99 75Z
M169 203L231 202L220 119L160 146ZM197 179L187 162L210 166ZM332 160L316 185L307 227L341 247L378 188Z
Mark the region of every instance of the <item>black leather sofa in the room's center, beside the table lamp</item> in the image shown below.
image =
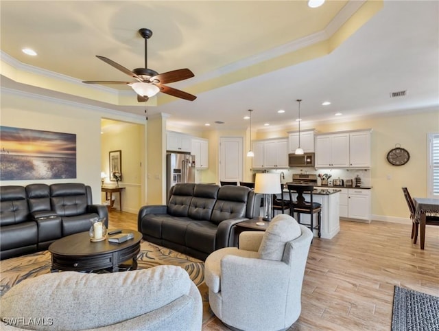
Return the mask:
M167 205L141 207L138 229L149 242L205 260L233 246L233 225L259 216L260 199L244 186L176 184Z

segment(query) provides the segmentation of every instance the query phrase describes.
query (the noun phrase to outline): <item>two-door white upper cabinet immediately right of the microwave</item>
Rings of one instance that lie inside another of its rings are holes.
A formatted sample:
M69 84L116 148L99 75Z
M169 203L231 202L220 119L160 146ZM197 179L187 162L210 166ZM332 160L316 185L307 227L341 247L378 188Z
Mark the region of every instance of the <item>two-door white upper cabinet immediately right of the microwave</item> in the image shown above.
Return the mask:
M348 168L349 133L316 137L316 168Z

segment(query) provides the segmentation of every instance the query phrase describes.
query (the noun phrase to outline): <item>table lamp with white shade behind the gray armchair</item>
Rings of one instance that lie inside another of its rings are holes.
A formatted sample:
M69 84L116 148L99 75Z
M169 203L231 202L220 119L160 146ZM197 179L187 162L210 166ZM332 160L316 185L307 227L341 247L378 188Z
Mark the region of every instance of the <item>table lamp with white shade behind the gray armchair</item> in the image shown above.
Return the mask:
M281 176L264 172L256 174L254 193L263 194L263 220L273 218L272 194L281 193Z

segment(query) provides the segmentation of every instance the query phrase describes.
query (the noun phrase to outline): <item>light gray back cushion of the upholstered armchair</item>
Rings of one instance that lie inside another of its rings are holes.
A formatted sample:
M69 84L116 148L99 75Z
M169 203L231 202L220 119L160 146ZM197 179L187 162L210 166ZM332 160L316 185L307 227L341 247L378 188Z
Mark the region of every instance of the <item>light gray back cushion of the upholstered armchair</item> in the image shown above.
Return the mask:
M263 235L258 253L261 259L281 261L285 244L300 236L298 222L287 214L276 215Z

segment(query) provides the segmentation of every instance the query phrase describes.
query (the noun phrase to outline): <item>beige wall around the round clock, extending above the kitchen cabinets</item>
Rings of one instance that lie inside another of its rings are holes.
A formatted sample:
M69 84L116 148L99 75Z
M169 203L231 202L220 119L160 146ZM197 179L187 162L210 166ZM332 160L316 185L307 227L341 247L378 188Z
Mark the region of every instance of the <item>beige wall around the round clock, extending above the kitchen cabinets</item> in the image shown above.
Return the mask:
M305 124L306 128L311 126ZM439 109L316 124L312 128L320 133L372 128L372 219L410 222L401 187L407 186L412 196L427 196L427 133L439 132ZM287 137L289 130L297 128L259 132L255 139ZM410 152L406 165L394 166L386 161L395 144Z

